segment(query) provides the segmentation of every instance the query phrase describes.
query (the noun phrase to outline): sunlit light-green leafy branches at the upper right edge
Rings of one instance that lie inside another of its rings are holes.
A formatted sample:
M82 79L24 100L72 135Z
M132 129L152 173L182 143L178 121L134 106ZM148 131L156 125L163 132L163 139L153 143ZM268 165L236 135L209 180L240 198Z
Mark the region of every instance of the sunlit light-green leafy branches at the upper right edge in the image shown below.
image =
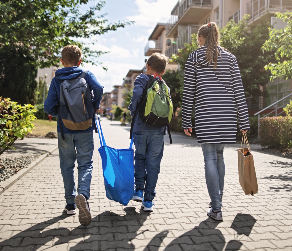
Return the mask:
M284 29L269 30L269 37L263 44L263 52L273 52L276 62L270 61L265 69L271 72L271 80L275 78L292 78L292 12L277 13L277 18L286 22Z

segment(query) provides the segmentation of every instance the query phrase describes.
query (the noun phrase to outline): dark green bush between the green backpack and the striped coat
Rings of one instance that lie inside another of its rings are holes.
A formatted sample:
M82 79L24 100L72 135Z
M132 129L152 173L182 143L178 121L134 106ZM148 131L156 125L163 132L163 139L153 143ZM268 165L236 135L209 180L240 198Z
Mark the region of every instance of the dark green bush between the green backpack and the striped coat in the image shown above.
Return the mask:
M175 116L175 111L182 105L184 75L181 70L167 70L162 77L170 89Z

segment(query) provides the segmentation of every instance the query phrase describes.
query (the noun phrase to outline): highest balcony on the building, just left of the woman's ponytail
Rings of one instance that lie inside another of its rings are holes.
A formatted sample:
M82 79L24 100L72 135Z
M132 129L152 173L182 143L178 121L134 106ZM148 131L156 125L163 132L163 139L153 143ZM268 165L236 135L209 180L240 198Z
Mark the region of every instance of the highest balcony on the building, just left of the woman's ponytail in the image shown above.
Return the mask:
M174 37L175 26L198 24L213 7L213 0L182 0L171 11L171 18L166 24L166 36Z

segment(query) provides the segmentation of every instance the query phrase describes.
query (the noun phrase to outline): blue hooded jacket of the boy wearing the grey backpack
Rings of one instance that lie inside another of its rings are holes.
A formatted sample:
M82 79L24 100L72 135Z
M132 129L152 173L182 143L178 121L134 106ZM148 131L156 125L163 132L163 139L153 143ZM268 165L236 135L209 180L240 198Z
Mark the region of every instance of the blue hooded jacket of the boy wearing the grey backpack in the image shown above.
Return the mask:
M55 77L52 79L48 97L44 104L44 110L46 113L57 117L58 116L58 107L57 104L60 103L60 86L61 83L65 79L74 79L77 78L83 70L77 66L73 67L64 67L62 69L58 69L55 72ZM92 72L87 71L87 74L85 76L85 80L88 83L90 90L93 90L94 99L93 99L93 108L94 110L99 109L99 104L102 99L102 93L103 93L103 86L100 85L100 83L97 81L96 77L93 75ZM66 128L63 124L63 121L61 121L64 134L70 134L70 133L82 133L82 132L88 132L94 130L94 126L89 127L86 130L70 130ZM59 121L57 121L57 131L60 131L60 125Z

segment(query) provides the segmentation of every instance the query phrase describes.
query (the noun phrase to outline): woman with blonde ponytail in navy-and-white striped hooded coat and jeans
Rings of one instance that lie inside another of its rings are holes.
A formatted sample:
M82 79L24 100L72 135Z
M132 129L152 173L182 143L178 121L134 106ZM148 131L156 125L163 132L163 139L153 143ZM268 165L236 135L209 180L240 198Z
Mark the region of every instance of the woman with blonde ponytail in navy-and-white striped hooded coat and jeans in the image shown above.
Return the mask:
M211 198L207 215L222 220L224 146L236 142L237 117L243 133L249 130L249 117L236 57L220 46L216 23L202 25L197 42L199 49L190 54L185 64L182 127L190 136L195 103L196 136L202 146Z

